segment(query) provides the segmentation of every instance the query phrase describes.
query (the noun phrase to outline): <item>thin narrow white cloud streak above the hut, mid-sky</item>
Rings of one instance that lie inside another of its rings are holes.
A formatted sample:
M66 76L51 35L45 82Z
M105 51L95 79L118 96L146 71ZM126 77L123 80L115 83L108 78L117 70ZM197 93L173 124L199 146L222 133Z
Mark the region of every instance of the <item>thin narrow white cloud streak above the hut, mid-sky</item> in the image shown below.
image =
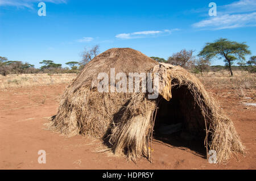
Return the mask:
M120 33L116 35L118 39L138 39L143 37L156 37L170 35L173 31L178 31L179 29L173 30L163 30L163 31L139 31L133 33Z

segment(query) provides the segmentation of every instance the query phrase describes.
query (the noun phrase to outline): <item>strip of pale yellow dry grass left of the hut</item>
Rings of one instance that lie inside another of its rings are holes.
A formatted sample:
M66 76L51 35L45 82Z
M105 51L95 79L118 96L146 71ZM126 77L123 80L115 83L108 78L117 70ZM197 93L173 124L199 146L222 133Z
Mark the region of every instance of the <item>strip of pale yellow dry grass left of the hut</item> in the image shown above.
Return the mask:
M10 74L0 75L0 89L69 83L77 74Z

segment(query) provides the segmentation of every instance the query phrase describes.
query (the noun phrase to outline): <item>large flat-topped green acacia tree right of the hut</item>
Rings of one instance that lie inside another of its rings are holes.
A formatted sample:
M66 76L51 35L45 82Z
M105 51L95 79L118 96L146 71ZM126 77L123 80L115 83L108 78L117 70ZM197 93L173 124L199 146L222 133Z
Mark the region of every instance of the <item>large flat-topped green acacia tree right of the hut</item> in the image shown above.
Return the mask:
M211 60L214 57L224 58L226 66L229 68L230 75L233 76L231 65L236 60L245 60L245 56L251 54L249 46L245 43L237 43L228 39L220 38L213 43L207 43L199 56Z

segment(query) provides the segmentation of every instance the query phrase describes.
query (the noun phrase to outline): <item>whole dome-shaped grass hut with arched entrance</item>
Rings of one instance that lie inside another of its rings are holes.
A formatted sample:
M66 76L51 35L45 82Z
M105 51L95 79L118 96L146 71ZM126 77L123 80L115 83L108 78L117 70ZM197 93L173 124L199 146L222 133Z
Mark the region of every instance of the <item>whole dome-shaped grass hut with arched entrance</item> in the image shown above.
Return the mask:
M143 76L136 82L132 75L146 75L147 86L142 85ZM140 89L135 91L138 82ZM158 90L151 98L150 83ZM129 90L118 89L125 85ZM85 65L65 90L51 128L68 136L101 138L115 154L134 160L150 158L150 141L158 133L187 133L205 145L205 152L215 150L218 162L233 151L244 153L232 121L195 76L130 48L106 50Z

